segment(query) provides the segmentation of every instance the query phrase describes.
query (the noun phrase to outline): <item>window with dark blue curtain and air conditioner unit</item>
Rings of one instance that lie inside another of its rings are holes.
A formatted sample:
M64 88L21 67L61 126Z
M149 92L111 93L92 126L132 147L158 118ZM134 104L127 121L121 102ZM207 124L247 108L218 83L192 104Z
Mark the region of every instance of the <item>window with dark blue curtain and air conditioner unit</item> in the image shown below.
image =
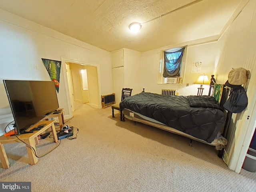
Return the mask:
M185 47L160 52L158 84L182 84L185 53Z

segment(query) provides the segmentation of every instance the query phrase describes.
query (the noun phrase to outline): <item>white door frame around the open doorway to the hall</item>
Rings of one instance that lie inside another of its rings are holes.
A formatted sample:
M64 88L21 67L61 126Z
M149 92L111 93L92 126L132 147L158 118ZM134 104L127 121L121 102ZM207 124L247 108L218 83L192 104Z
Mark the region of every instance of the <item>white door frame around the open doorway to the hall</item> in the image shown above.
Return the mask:
M80 64L80 65L88 65L88 66L93 66L97 68L97 74L98 74L98 91L99 91L99 96L98 96L98 106L94 106L96 108L101 109L101 84L100 84L100 65L99 64L94 64L94 63L89 63L89 62L83 62L83 61L79 61L79 60L74 60L74 59L70 59L70 58L65 58L65 57L61 57L62 63L66 62L71 62L71 63L76 63L76 64ZM66 71L66 65L65 66L65 71ZM66 74L66 73L65 73ZM67 75L64 76L64 82L65 82L65 88L66 88L66 95L69 98L67 101L68 102L68 111L70 112L70 114L72 114L72 109L71 109L71 99L69 96L69 93L71 92L71 88L70 86L68 86L68 77Z

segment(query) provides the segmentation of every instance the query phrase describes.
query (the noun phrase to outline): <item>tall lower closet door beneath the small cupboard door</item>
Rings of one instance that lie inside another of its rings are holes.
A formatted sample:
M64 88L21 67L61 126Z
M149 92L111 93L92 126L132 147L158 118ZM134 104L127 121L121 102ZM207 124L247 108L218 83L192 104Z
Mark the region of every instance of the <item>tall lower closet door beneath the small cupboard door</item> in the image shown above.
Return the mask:
M115 93L116 103L121 101L122 88L124 88L124 67L112 68L113 92Z

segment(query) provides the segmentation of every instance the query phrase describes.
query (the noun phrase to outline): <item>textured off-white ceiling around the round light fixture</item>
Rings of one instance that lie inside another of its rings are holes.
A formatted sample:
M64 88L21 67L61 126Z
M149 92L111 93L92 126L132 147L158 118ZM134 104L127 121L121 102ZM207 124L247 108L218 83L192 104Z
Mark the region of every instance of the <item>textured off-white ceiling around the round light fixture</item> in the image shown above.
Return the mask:
M240 2L0 0L0 8L110 52L144 52L219 35ZM132 22L142 24L137 34L128 28Z

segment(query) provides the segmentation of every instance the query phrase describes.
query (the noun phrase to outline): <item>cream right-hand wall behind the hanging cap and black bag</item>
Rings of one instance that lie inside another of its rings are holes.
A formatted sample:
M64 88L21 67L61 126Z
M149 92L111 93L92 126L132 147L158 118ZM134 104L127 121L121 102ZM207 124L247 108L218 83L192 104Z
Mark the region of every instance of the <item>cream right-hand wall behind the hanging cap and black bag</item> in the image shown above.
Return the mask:
M256 89L256 0L250 0L242 12L222 35L218 41L220 53L218 54L218 63L216 66L217 81L225 83L228 79L228 72L232 68L243 67L251 72L251 78L244 85L247 90L248 106L240 114L232 115L232 123L228 132L228 145L226 151L228 158L225 162L231 170L240 172L239 164L244 160L249 140L244 140L245 135L251 138L255 127L248 129L250 121L255 122L252 113L255 102L252 101ZM247 118L247 117L251 118ZM240 157L241 156L241 157ZM240 157L240 162L238 158Z

